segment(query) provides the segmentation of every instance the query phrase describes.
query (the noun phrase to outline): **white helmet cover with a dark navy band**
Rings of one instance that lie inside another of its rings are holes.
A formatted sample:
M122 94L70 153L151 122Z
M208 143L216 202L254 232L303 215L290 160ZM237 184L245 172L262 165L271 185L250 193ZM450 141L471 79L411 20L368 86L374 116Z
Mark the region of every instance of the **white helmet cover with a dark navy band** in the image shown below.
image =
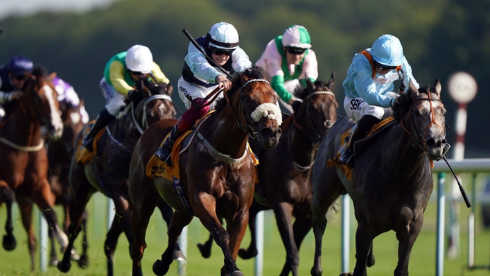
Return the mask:
M209 29L207 40L209 46L220 49L236 49L239 42L238 31L229 23L216 23Z

